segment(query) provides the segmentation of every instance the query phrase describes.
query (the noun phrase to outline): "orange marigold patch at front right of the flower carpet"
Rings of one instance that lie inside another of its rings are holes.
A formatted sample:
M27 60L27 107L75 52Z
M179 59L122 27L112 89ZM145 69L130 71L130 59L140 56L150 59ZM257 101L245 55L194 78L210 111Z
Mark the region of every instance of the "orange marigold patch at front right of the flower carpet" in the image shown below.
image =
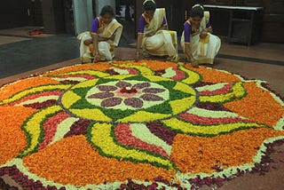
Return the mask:
M236 131L214 138L178 134L170 157L182 172L212 172L216 165L227 168L253 162L264 139L283 134L283 131L267 128Z

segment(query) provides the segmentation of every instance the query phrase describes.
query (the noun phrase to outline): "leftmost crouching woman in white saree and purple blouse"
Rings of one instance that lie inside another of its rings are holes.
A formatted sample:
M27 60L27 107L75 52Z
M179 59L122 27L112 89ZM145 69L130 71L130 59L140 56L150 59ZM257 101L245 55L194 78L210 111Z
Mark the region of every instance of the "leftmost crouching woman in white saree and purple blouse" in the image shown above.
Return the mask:
M111 60L114 58L114 46L119 44L122 25L114 19L114 10L106 5L99 17L92 22L91 32L83 32L77 38L81 40L80 57L83 63Z

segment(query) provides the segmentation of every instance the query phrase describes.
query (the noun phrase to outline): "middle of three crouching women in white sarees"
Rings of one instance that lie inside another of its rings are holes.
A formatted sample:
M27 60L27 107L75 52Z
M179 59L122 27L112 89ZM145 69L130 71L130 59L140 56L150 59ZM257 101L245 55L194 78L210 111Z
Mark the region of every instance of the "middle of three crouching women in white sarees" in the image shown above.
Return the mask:
M168 30L165 9L156 9L154 0L146 0L143 8L145 12L138 27L137 59L142 48L145 56L169 56L177 60L177 32Z

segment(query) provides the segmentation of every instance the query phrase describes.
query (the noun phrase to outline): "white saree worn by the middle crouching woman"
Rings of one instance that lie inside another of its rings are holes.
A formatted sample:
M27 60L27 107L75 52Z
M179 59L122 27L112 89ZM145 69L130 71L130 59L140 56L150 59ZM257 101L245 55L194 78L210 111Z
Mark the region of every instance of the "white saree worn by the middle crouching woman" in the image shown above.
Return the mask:
M142 49L151 55L174 57L177 56L177 32L159 30L163 18L166 18L165 9L156 9L153 19L144 28ZM156 32L154 36L147 36L153 32Z

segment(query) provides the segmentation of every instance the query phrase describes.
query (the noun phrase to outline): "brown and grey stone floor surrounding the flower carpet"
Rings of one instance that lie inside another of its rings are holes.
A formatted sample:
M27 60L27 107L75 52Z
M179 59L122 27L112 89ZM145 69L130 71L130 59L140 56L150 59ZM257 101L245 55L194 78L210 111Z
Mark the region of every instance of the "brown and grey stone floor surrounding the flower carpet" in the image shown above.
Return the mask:
M80 63L79 42L75 36L31 37L20 33L8 34L11 33L0 31L0 85L35 73ZM215 64L209 67L267 81L272 90L284 96L283 52L284 44L256 44L248 47L224 43ZM122 36L122 44L115 49L115 55L115 59L134 59L133 40ZM226 182L218 189L284 189L284 146L277 146L276 150L272 154L275 162L270 172L264 176L246 174ZM203 186L201 189L216 187Z

